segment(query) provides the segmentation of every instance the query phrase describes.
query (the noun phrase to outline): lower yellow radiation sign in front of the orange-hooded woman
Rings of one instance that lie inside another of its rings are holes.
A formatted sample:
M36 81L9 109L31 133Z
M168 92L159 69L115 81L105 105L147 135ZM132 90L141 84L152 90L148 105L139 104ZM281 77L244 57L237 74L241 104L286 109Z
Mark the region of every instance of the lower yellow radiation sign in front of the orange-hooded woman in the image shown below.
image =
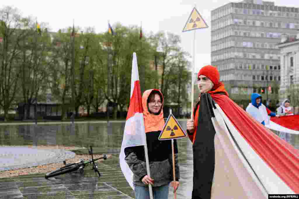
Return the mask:
M169 114L163 130L160 133L159 140L171 140L184 137L187 137L187 135L181 125L173 114Z

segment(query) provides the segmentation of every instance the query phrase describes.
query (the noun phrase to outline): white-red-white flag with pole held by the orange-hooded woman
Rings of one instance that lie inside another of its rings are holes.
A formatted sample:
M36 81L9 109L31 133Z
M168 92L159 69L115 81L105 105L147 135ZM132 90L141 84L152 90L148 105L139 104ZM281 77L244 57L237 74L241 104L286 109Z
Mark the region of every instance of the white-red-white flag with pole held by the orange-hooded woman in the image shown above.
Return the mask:
M133 53L132 77L131 77L131 95L128 114L126 118L125 129L123 132L123 141L121 144L119 164L126 180L133 187L133 172L125 161L125 148L130 146L144 146L145 161L147 166L147 175L150 177L149 158L147 152L147 140L145 135L142 98L139 83L138 65L136 53ZM149 196L153 199L152 185L149 184Z

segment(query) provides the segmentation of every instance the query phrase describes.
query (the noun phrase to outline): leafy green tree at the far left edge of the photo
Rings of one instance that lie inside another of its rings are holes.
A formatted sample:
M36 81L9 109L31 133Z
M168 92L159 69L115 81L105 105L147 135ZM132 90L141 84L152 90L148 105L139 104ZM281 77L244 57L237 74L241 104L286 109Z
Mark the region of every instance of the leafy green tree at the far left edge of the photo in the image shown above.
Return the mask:
M28 36L28 20L18 9L4 7L0 10L0 106L7 121L8 110L16 103L20 76L20 47Z

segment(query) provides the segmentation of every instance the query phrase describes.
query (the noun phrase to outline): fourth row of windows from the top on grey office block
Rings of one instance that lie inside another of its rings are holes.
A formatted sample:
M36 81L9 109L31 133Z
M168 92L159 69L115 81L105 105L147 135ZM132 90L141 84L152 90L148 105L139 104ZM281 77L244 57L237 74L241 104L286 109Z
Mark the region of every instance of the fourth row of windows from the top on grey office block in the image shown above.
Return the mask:
M212 52L216 50L221 50L228 47L244 47L244 48L269 48L277 49L277 43L261 43L261 42L236 42L236 41L225 41L211 47Z

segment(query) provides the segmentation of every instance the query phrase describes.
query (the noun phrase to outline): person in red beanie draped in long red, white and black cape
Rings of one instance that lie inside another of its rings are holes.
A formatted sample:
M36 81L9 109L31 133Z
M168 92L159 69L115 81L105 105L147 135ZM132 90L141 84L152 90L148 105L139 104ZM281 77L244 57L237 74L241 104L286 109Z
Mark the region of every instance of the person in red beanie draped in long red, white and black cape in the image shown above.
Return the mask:
M194 120L187 121L193 144L192 199L299 193L298 150L228 97L216 67L203 67L198 85Z

